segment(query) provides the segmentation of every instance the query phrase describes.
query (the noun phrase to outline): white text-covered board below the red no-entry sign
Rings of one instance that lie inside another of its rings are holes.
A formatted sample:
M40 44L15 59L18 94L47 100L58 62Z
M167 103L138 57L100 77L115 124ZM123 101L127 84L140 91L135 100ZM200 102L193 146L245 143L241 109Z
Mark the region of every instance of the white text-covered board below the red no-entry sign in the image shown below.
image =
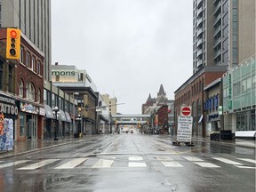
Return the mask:
M177 141L178 142L191 142L192 138L192 116L179 116L178 117L178 130Z

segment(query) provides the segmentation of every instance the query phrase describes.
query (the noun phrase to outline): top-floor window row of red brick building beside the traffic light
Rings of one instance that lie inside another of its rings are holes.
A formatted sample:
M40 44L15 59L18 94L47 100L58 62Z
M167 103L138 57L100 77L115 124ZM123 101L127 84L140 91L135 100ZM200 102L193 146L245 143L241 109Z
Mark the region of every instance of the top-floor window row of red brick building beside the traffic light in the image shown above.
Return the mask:
M39 76L42 76L41 60L36 60L30 52L25 52L23 47L20 47L20 63L24 64L27 68L30 68Z

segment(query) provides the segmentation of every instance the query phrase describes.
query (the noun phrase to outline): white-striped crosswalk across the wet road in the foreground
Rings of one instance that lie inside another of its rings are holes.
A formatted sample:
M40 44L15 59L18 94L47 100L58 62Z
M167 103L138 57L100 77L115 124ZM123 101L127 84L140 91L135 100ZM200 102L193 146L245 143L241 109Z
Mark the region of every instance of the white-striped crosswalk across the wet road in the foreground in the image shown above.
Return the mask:
M151 158L151 159L150 159ZM87 164L90 160L90 165ZM123 162L122 162L123 161ZM124 163L123 166L128 168L145 168L148 167L154 161L155 164L162 165L166 168L182 168L186 166L191 166L195 164L196 166L203 168L221 168L225 165L230 165L240 169L254 169L255 170L255 159L250 158L236 158L228 159L219 156L213 156L204 160L196 156L181 156L180 159L173 160L171 156L150 156L147 159L144 159L143 156L127 156L124 159L116 159L116 157L105 157L96 156L96 157L84 157L84 158L67 158L67 159L44 159L41 161L35 160L17 160L13 162L0 162L0 170L8 167L14 167L17 171L33 171L42 167L53 170L70 170L75 168L111 168L114 167L114 164ZM191 163L191 164L188 164ZM49 168L51 167L51 168Z

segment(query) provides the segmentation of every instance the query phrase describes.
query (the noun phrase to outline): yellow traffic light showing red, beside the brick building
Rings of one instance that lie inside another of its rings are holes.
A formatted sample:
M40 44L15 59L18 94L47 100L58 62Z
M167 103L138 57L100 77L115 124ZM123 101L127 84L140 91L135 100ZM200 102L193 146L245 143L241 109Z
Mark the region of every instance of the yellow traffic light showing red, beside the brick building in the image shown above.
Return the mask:
M6 59L20 60L20 29L7 28Z

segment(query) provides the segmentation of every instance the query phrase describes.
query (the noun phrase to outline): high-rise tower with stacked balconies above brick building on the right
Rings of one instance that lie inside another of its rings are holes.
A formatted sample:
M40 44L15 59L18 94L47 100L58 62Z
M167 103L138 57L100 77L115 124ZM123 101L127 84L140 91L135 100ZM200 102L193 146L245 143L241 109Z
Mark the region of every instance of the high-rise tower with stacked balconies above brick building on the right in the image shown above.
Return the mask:
M255 0L193 1L193 73L255 54Z

